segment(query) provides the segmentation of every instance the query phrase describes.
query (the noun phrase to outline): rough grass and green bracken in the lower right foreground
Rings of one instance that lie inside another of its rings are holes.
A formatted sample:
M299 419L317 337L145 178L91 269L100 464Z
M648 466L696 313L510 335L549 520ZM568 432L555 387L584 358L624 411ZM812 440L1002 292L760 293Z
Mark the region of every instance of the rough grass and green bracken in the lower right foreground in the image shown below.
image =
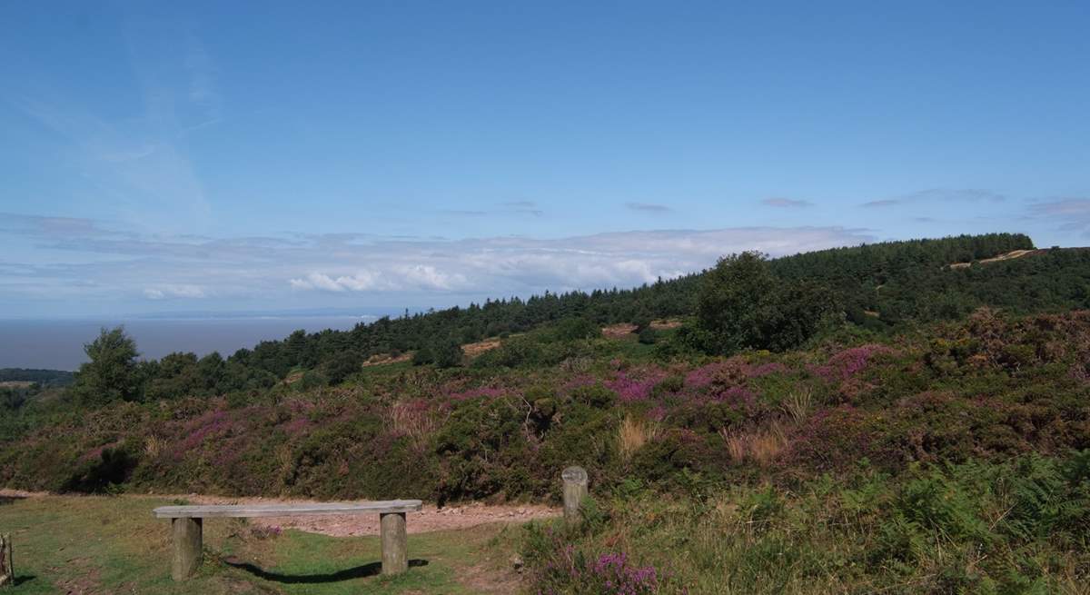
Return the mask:
M584 503L578 532L531 525L550 595L1090 593L1090 450L913 465L791 487L632 486Z

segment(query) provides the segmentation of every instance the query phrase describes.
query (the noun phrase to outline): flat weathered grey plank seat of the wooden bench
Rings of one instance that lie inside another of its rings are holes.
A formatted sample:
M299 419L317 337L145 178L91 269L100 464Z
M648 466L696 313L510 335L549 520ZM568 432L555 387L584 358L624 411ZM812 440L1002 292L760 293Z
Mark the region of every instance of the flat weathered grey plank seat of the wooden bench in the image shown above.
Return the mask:
M421 500L377 502L315 502L301 505L203 505L165 506L153 512L158 519L209 519L214 517L298 517L305 514L388 514L417 512Z

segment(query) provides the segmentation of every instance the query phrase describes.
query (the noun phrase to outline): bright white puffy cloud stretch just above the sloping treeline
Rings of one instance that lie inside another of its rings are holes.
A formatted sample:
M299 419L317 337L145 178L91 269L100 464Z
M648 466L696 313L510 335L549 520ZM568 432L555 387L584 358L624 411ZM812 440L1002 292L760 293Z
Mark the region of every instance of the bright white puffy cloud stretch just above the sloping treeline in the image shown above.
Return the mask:
M360 252L360 265L326 263L291 278L289 284L328 291L493 294L629 287L701 270L731 252L783 255L869 240L873 236L863 230L841 228L630 231L559 240L380 240Z

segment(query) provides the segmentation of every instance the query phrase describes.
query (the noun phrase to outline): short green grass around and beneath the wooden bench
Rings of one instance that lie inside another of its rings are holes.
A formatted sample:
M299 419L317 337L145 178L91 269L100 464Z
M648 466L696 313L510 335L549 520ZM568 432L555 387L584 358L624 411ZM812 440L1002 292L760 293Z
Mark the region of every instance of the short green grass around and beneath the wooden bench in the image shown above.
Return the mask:
M275 535L242 519L205 521L205 563L185 583L170 580L168 521L142 497L0 498L0 532L15 544L16 588L35 593L510 593L497 569L510 530L409 536L409 572L379 574L377 536ZM410 523L411 523L410 519Z

